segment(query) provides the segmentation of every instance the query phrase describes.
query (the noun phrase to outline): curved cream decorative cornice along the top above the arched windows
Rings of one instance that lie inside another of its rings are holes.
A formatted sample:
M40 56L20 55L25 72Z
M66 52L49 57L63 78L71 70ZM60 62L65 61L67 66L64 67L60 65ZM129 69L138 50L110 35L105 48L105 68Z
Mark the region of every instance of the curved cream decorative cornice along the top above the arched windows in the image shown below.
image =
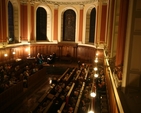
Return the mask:
M28 0L21 0L22 2ZM58 5L80 5L80 4L90 4L94 2L98 2L98 0L76 0L76 1L65 1L65 0L29 0L30 3L48 3L48 4L58 4Z

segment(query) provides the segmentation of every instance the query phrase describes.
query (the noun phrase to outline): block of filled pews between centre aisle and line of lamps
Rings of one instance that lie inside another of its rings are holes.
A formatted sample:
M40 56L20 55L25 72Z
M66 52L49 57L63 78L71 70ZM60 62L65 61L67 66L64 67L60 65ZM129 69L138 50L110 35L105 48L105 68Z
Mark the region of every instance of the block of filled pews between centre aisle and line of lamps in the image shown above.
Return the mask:
M88 67L83 67L80 70L76 68L67 69L57 79L56 84L51 87L49 92L44 94L30 111L33 113L77 113L82 111L84 107L88 110L91 83L90 79L87 80L87 76ZM85 102L83 107L79 105L81 98L84 99L83 103Z

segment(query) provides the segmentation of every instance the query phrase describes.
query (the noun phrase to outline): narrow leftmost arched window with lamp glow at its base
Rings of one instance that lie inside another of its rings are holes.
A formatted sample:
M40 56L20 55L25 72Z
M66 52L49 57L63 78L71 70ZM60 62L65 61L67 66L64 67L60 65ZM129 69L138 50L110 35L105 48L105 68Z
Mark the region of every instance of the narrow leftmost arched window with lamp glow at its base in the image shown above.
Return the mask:
M8 2L8 41L14 42L14 18L13 18L13 5Z

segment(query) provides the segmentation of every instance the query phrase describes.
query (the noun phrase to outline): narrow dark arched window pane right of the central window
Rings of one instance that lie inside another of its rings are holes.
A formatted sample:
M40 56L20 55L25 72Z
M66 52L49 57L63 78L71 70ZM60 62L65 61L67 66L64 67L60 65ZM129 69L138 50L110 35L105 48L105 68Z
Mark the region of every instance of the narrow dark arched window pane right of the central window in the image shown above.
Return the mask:
M95 19L96 19L96 10L92 9L90 14L90 33L89 33L89 42L94 43L95 38Z

